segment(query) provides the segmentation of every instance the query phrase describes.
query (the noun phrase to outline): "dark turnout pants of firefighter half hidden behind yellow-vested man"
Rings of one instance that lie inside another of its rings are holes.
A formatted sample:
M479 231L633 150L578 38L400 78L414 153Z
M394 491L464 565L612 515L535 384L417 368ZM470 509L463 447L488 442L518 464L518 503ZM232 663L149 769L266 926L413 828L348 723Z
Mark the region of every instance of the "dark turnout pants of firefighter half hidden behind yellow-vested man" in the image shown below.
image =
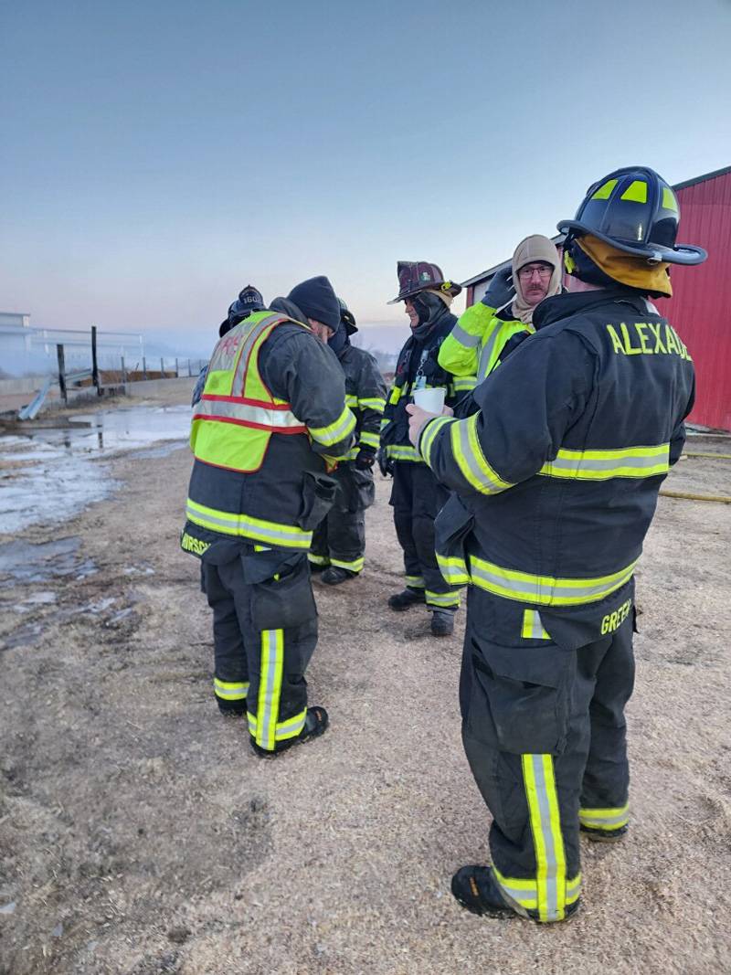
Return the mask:
M332 507L315 529L310 546L314 565L337 565L356 574L365 554L365 509L373 503L373 477L352 464L338 466Z

